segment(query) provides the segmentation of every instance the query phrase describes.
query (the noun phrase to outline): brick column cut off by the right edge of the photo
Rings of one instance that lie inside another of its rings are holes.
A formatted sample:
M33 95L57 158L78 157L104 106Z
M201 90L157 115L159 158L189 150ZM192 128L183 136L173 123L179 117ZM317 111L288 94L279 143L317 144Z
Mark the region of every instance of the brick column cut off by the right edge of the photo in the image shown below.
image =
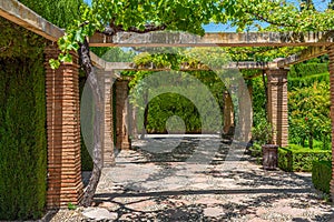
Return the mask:
M334 46L328 47L330 84L331 84L331 119L332 119L332 181L331 198L334 201Z

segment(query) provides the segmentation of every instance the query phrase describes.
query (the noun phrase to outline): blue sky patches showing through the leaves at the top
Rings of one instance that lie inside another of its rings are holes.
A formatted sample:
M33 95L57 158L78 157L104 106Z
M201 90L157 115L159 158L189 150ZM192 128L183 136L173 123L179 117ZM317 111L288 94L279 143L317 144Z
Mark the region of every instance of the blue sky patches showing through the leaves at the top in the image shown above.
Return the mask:
M91 4L91 0L84 0L88 4ZM288 2L296 3L297 6L299 4L298 0L288 0ZM327 8L330 0L313 0L314 7L316 10L323 11ZM206 24L203 26L204 30L206 32L235 32L236 28L230 27L229 24Z

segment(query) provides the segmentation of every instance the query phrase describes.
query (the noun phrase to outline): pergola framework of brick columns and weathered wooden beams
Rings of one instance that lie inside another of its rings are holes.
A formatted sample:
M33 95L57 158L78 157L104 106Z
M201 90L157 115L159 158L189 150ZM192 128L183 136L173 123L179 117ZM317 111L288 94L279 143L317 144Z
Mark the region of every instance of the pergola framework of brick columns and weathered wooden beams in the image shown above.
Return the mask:
M47 132L48 132L48 208L77 204L82 195L80 168L80 117L79 117L79 64L75 52L71 63L62 63L52 70L49 59L56 59L59 50L57 40L65 34L60 28L48 22L17 0L0 0L0 16L49 40L46 48L46 91L47 91ZM117 33L114 37L96 33L89 38L91 47L307 47L298 54L277 59L274 62L232 62L227 69L261 69L267 74L268 115L277 133L274 141L281 147L287 145L287 71L291 64L298 63L322 54L330 56L331 73L331 118L334 123L334 39L332 32L247 32L247 33L206 33L204 37L185 33L151 32L137 34ZM134 63L107 62L91 53L94 65L114 73L115 70L159 70L154 67L138 68ZM166 70L166 69L164 69ZM183 69L181 69L183 70ZM186 70L186 69L185 69ZM111 78L105 78L105 132L104 164L112 163L114 142L111 120L119 119L125 124L121 113L111 115ZM127 85L119 88L116 101L127 98ZM124 108L126 109L126 108ZM121 148L127 148L128 132L121 133ZM332 151L334 151L334 128L332 130ZM334 153L334 152L333 152ZM333 155L334 178L334 155ZM334 180L331 181L332 199Z

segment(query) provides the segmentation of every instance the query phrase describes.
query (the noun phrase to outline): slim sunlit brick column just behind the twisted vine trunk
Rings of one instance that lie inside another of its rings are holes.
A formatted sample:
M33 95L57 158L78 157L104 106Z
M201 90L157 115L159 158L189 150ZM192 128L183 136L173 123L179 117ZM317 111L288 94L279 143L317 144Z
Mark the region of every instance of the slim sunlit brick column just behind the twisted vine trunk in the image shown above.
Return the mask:
M114 133L112 133L112 78L109 72L105 73L105 137L104 137L104 167L115 165Z

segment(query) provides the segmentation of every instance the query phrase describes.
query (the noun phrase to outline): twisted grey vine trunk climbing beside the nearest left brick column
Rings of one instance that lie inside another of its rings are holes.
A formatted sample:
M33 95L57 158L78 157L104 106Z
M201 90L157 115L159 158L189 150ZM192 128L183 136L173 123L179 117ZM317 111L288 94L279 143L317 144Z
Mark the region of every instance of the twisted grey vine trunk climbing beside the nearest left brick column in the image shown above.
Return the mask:
M84 192L84 198L81 200L81 205L89 206L92 203L94 195L98 185L98 182L101 176L102 169L102 149L101 149L101 138L100 138L100 125L101 125L101 110L102 110L102 94L101 90L98 85L98 80L96 74L94 73L94 68L91 64L91 59L89 56L89 46L87 40L82 44L80 44L79 56L81 65L86 72L87 83L91 88L94 99L96 101L95 107L95 117L94 117L94 169L89 180L89 183Z

